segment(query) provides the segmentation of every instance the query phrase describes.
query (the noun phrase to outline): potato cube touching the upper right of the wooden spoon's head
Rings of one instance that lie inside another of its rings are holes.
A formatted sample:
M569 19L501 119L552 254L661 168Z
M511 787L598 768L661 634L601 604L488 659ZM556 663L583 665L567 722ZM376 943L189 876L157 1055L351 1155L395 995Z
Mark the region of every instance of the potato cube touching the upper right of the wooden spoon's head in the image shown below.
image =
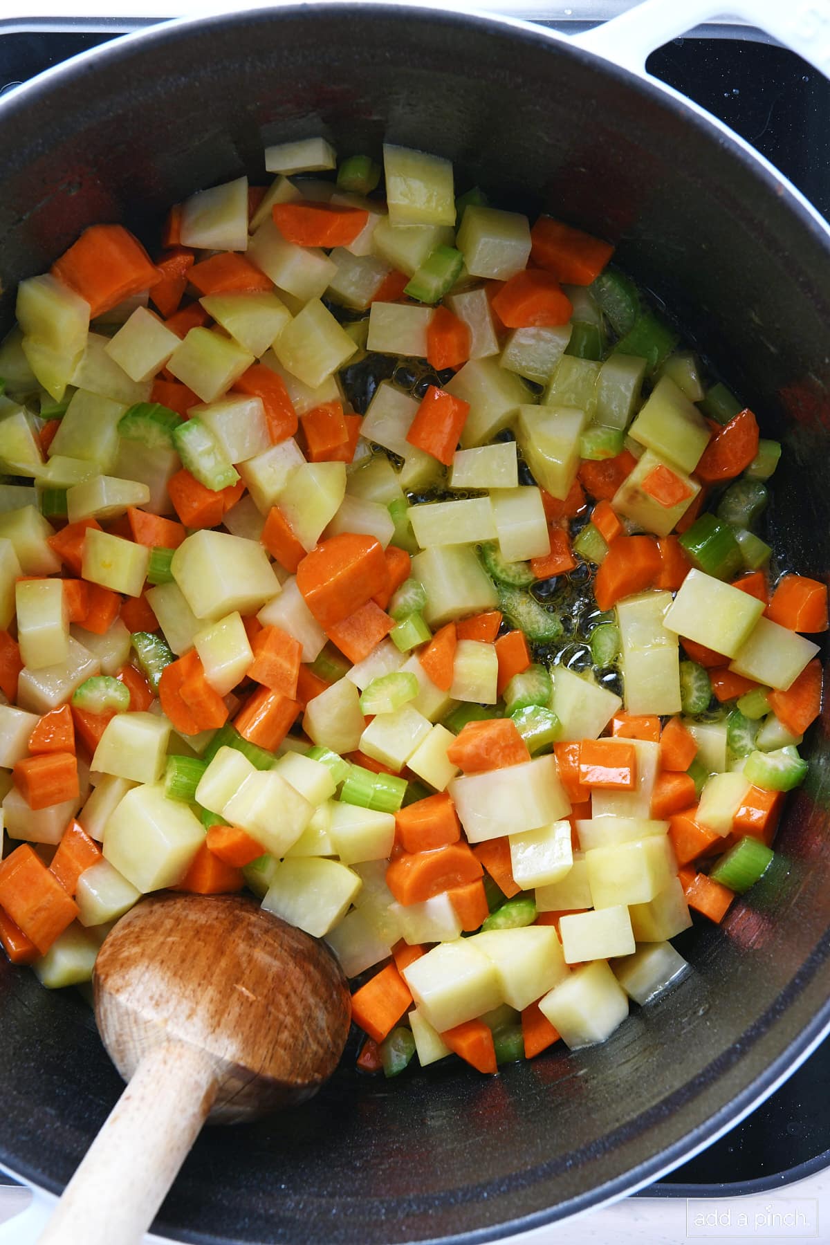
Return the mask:
M263 908L306 934L322 937L342 920L360 885L357 874L337 860L315 857L284 860Z

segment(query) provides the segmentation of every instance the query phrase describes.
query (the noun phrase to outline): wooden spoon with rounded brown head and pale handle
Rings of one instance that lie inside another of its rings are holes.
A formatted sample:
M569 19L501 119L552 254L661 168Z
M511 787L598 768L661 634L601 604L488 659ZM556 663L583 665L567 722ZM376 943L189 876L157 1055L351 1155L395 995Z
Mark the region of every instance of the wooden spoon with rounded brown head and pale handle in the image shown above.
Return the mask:
M95 966L103 1043L129 1082L41 1245L141 1241L205 1119L311 1097L351 1018L325 944L240 895L158 895L118 921Z

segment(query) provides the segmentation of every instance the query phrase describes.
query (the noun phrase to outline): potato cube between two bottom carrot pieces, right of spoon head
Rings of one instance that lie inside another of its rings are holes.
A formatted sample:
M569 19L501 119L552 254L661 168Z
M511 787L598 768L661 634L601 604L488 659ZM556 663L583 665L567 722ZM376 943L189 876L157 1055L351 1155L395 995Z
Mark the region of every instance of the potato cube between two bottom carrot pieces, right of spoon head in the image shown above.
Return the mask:
M504 1002L493 960L472 939L442 942L403 970L418 1010L439 1033Z

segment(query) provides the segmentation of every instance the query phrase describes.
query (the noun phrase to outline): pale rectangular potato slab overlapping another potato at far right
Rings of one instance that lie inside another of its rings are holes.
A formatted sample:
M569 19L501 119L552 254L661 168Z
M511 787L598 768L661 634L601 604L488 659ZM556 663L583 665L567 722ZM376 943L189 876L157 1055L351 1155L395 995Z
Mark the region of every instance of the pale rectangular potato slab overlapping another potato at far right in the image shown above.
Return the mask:
M677 631L687 640L694 640L707 649L734 657L749 639L763 613L764 603L749 593L742 593L740 589L706 575L702 570L689 570L671 609L666 611L663 626L669 631ZM768 619L764 622L762 636L767 627L775 626ZM793 636L794 632L790 631L789 635ZM810 644L809 640L803 642ZM806 660L809 661L809 657ZM804 664L806 665L806 661ZM760 677L759 682L768 681Z

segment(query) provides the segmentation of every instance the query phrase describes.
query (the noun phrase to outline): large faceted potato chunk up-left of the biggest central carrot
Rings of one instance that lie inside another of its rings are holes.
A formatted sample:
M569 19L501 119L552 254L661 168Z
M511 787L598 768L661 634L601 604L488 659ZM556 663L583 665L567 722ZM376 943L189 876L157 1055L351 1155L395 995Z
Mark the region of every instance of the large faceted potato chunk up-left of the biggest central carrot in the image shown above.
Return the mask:
M263 547L225 532L194 532L173 554L170 571L198 619L253 614L280 591Z

